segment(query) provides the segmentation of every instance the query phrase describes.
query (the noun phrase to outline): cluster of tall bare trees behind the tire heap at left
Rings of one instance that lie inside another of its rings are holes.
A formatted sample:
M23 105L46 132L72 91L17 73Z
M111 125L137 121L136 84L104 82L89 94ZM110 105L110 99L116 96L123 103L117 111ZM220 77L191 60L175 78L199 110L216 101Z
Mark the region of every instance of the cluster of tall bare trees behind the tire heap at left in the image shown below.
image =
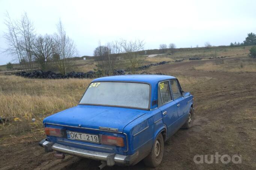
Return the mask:
M55 67L66 74L74 64L73 57L78 56L76 45L66 34L61 21L57 23L57 31L53 35L37 35L27 13L23 13L18 20L12 20L7 12L5 25L8 28L4 33L8 45L5 52L19 62L22 70L33 70L38 64L44 71Z

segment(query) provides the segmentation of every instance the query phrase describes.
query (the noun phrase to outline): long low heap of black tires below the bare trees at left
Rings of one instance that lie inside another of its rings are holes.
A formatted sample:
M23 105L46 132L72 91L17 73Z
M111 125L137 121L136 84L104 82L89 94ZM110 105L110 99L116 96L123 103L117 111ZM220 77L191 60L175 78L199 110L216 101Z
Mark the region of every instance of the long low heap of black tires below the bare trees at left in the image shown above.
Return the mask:
M53 71L39 71L34 70L33 72L15 72L15 75L27 77L27 78L47 78L47 79L60 79L60 78L96 78L102 77L104 74L102 71L88 71L84 72L69 72L68 74L64 75L61 73L55 73ZM125 75L126 72L122 69L114 70L113 75Z

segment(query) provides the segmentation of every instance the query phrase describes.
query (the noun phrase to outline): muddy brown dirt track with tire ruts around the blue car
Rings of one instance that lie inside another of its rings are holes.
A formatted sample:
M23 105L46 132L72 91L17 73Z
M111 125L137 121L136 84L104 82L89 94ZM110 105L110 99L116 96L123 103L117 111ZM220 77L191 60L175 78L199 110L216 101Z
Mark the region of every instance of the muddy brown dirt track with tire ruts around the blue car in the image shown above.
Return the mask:
M191 77L183 84L195 98L196 122L189 130L179 130L165 143L163 162L156 170L256 169L256 74L205 72L193 69L205 61L180 62L151 67L152 72L168 72ZM198 81L198 82L197 82ZM94 170L98 161L68 156L57 160L44 153L37 142L0 146L0 169ZM242 164L220 162L196 164L195 155L238 154ZM105 167L105 170L149 170L142 162L132 167Z

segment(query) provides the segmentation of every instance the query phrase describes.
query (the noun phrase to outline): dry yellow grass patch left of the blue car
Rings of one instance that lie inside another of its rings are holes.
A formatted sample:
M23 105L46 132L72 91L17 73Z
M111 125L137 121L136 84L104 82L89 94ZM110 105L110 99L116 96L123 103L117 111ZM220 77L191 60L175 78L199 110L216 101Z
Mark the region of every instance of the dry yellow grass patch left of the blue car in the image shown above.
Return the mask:
M89 79L29 79L0 76L0 117L42 125L42 119L78 104Z

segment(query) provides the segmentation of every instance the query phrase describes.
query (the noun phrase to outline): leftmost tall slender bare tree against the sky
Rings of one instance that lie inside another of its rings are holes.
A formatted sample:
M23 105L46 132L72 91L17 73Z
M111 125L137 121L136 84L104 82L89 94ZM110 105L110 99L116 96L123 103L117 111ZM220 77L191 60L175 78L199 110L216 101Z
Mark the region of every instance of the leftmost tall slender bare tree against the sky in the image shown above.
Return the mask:
M5 52L9 55L12 55L14 57L14 60L20 63L21 69L24 69L24 65L22 62L24 60L24 56L20 48L18 22L12 21L8 12L6 12L5 25L8 28L8 31L5 32L3 35L8 45L8 48L5 49Z

